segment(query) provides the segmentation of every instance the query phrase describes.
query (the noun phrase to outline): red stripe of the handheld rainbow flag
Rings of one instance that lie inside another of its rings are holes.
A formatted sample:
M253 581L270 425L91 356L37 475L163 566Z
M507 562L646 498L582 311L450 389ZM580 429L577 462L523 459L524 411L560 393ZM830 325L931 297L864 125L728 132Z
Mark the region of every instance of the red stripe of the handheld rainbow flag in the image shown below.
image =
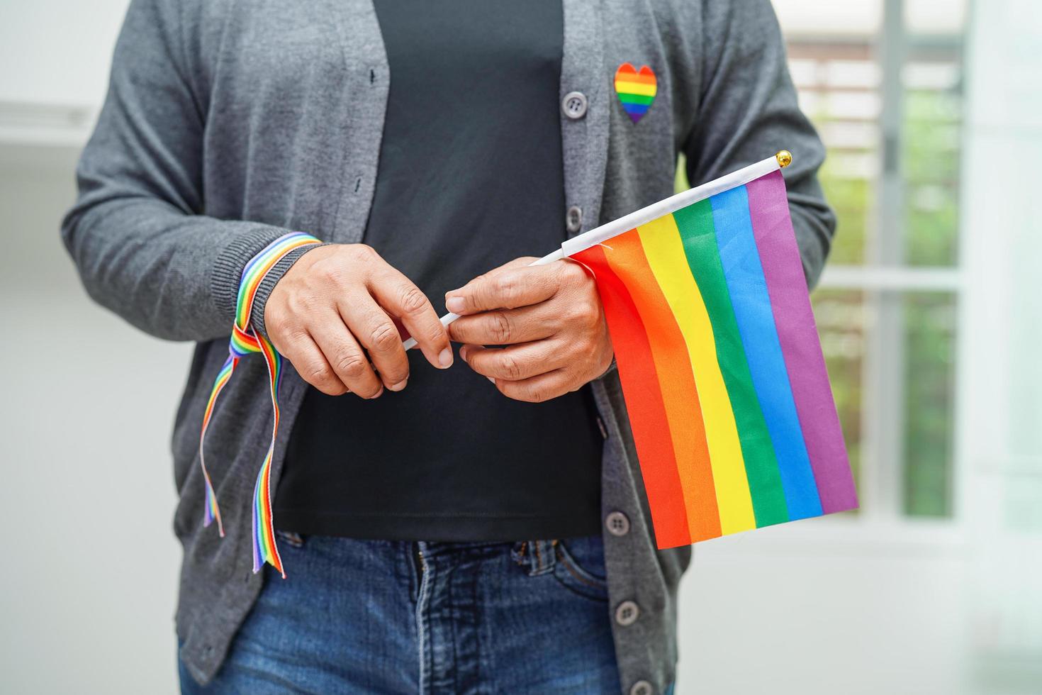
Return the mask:
M626 284L612 270L599 246L572 256L590 268L604 306L626 409L634 430L644 489L651 508L655 543L674 548L691 543L688 510L676 467L673 443L663 431L669 426L651 346ZM714 508L715 513L715 508ZM719 530L717 531L719 536Z

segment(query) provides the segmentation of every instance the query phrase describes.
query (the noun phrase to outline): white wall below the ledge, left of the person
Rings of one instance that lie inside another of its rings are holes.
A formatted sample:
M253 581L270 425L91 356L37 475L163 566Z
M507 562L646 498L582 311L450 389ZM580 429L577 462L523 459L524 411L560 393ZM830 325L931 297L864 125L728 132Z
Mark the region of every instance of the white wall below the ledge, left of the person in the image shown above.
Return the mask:
M79 288L57 234L74 159L0 146L0 691L172 693L167 442L190 349Z

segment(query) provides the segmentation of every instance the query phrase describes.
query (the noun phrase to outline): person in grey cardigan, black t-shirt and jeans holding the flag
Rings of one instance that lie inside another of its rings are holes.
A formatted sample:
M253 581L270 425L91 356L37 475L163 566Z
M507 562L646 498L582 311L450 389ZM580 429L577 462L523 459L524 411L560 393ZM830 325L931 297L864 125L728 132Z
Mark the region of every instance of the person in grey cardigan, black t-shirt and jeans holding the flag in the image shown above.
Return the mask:
M639 118L627 63L655 76ZM678 154L701 182L783 148L813 284L824 152L768 0L131 0L61 231L98 302L196 343L182 692L672 692L691 550L655 550L594 281L527 263L671 195ZM289 232L322 244L245 307L284 356L282 579L249 551L265 359L204 442L224 538L199 438L244 268Z

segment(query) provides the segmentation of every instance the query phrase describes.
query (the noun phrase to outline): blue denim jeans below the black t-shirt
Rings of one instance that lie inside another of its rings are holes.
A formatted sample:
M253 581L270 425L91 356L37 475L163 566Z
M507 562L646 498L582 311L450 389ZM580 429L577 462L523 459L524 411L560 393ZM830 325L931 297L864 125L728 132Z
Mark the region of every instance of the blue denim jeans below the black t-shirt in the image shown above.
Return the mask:
M404 543L280 533L216 678L182 693L618 693L599 537Z

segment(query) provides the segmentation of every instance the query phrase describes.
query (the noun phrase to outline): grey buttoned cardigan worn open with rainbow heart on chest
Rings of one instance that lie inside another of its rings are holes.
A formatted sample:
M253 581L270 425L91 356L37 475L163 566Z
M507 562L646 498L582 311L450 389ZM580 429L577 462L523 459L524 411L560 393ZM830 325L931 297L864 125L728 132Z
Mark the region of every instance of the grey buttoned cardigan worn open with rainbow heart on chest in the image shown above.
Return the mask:
M701 182L789 149L785 177L813 282L835 226L816 180L823 148L797 107L769 0L564 0L564 15L561 96L587 101L585 113L575 102L561 113L570 230L670 195L678 152ZM624 61L659 78L637 125L613 88ZM250 553L250 497L271 426L262 359L241 363L207 440L223 540L202 527L197 460L239 276L288 229L362 239L391 79L370 0L133 0L117 44L61 231L98 302L153 336L197 343L173 458L184 548L177 634L200 681L220 668L262 587ZM288 367L273 485L304 390ZM615 625L620 687L650 695L674 679L676 587L691 550L655 550L617 375L594 392L609 433L603 514L629 521L626 532L604 531L610 610L625 601L639 612Z

